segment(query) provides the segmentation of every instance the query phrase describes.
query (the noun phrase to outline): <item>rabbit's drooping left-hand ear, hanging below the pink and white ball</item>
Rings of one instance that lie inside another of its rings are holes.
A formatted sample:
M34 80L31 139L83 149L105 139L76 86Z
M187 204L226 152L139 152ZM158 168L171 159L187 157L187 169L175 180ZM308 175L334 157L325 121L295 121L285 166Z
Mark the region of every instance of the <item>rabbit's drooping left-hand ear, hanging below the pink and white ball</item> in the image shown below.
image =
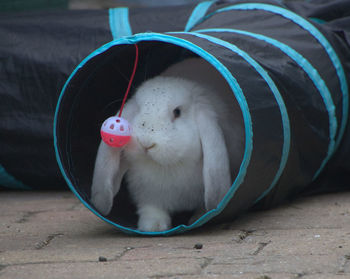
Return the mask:
M103 215L113 207L114 196L128 167L122 158L122 149L113 148L101 141L98 148L91 187L91 202Z

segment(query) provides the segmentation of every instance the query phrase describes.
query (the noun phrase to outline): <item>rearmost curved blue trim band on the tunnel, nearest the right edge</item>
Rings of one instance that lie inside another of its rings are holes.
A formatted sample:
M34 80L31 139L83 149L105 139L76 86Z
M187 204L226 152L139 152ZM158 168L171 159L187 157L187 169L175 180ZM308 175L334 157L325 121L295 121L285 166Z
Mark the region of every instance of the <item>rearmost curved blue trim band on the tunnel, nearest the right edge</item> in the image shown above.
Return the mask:
M296 13L294 13L292 11L286 10L286 9L278 7L278 6L269 5L269 4L261 4L261 3L236 4L236 5L232 5L232 6L228 6L228 7L219 9L219 10L211 13L210 15L207 15L203 20L205 20L205 19L207 19L207 18L209 18L217 13L231 11L231 10L264 10L264 11L272 12L275 14L279 14L279 15L283 16L284 18L290 19L291 21L293 21L294 23L299 25L301 28L308 31L324 47L325 51L327 52L330 60L333 63L333 66L337 72L337 76L338 76L338 79L340 82L341 91L343 94L343 100L342 100L342 103L343 103L342 113L343 113L343 115L342 115L342 120L341 120L341 124L340 124L338 137L335 141L335 147L334 147L334 151L335 151L339 147L339 144L343 138L346 124L347 124L348 113L349 113L349 91L348 91L348 84L346 82L346 76L345 76L344 69L342 67L342 64L340 62L338 55L336 54L336 52L332 48L331 44L328 42L328 40L325 38L325 36L315 26L313 26L309 21L305 20L303 17L297 15ZM328 154L326 156L321 168L314 175L314 177L313 177L314 180L319 176L319 174L321 173L323 168L326 166L326 164L329 161L329 159L331 158L331 156L332 156L332 154Z

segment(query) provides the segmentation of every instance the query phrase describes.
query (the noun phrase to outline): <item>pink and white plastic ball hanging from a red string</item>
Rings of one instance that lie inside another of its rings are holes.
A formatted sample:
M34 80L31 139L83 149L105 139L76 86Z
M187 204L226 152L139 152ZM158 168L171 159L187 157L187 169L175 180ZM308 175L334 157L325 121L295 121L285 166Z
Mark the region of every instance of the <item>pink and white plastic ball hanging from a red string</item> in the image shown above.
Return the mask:
M111 147L122 147L131 139L131 127L124 118L112 116L101 126L102 140Z

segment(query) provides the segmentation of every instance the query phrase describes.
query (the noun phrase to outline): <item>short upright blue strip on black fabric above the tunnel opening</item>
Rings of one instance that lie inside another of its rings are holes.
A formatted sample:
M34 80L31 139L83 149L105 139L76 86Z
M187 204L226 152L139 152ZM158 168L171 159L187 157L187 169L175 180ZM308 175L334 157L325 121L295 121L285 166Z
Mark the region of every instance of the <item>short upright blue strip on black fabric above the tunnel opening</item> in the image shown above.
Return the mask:
M132 30L129 22L129 8L109 9L109 27L113 40L125 36L131 36Z

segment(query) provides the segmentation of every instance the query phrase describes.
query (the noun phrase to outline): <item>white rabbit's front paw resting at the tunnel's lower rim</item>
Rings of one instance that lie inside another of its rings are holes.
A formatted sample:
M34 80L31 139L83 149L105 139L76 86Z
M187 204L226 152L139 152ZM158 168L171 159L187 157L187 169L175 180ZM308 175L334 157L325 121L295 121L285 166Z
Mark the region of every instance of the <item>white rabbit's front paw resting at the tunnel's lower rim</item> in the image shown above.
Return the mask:
M160 232L170 229L171 217L165 210L156 207L143 207L139 211L138 230Z

